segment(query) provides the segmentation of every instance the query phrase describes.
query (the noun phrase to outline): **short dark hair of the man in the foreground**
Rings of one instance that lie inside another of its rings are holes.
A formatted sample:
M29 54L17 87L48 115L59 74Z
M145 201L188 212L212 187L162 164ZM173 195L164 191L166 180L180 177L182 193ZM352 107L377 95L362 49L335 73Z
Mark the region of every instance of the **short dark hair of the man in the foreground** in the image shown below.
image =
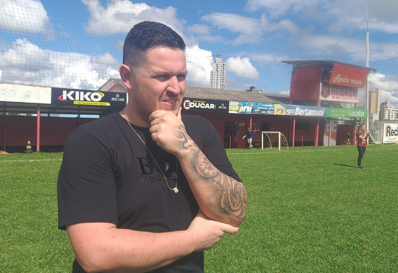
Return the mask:
M185 50L183 38L170 27L158 22L144 21L127 33L123 45L123 64L138 67L146 61L145 54L153 47Z

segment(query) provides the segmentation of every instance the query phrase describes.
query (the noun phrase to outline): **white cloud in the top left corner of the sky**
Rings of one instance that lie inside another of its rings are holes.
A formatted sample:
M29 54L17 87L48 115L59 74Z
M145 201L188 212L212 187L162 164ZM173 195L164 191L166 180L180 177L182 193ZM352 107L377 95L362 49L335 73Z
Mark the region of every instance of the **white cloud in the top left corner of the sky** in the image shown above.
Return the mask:
M39 0L1 0L0 28L14 34L44 33L49 18Z

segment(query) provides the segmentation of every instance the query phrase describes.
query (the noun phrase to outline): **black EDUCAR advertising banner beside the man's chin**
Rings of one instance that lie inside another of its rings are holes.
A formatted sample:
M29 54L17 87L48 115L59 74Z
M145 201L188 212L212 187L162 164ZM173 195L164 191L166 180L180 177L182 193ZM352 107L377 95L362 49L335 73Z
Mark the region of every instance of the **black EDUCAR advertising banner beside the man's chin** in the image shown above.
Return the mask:
M183 100L183 108L187 111L228 113L228 101L191 99Z

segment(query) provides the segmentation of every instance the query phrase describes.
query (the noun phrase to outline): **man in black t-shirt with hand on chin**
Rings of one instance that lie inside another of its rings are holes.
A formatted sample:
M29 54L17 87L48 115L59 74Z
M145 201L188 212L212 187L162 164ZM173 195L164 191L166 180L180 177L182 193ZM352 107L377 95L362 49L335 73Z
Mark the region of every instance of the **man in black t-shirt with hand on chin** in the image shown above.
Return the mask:
M141 22L119 72L123 111L75 130L58 176L59 228L79 272L203 272L203 250L236 233L247 194L205 119L181 115L185 43Z

